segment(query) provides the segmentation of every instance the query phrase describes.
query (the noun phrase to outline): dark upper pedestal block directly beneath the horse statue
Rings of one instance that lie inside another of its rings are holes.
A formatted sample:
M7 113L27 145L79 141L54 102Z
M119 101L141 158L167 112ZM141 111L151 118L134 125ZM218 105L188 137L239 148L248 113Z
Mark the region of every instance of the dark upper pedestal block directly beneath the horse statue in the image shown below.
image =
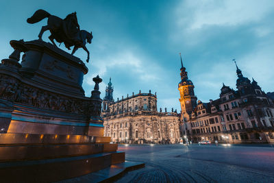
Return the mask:
M83 78L88 73L84 62L49 42L25 42L25 52L20 72L40 85L58 93L84 97Z

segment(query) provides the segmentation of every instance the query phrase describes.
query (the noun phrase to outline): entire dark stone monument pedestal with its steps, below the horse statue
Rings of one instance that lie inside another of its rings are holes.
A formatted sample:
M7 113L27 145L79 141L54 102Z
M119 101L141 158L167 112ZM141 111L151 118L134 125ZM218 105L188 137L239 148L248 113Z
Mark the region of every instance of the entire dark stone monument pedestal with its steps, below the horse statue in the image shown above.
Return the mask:
M39 40L11 45L14 64L0 64L1 180L53 182L125 162L103 136L101 78L85 97L79 58Z

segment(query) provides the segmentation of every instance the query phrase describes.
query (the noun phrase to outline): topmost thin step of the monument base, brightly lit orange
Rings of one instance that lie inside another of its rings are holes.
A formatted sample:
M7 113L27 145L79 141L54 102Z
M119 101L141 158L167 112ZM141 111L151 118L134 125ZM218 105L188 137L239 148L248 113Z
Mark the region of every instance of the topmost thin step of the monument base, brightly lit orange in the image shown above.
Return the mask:
M1 144L110 143L109 136L58 134L0 134Z

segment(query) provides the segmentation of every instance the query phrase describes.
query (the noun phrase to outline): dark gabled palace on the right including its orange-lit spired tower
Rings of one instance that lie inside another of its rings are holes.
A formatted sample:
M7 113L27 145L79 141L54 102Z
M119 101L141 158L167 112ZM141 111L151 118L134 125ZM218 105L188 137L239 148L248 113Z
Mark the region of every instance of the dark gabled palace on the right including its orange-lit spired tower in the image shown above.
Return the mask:
M203 103L197 102L194 85L182 64L178 90L182 108L180 130L185 141L274 143L273 99L255 80L244 77L237 64L236 73L237 90L223 84L219 99Z

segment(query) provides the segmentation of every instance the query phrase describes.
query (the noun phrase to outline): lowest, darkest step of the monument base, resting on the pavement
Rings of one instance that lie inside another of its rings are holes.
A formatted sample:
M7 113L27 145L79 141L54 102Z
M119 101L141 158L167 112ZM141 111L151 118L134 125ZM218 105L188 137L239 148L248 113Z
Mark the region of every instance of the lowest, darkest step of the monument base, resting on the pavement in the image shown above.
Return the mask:
M86 175L121 162L125 162L124 152L0 162L0 177L1 182L53 182Z

